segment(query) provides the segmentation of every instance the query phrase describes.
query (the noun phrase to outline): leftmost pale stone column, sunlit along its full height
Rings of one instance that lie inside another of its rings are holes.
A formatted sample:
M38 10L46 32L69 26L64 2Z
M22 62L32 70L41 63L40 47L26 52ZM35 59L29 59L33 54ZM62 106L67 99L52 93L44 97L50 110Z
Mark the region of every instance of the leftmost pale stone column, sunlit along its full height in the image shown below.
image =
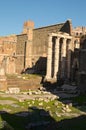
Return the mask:
M52 36L51 35L49 35L48 40L49 41L48 41L46 80L51 79L51 73L52 73Z

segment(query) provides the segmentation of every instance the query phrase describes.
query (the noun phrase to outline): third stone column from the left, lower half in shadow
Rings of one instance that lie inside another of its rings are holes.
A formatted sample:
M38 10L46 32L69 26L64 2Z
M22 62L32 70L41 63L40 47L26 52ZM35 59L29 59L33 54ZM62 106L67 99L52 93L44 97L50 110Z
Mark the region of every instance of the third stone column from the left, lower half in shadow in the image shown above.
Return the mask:
M62 67L62 78L65 78L66 76L66 38L63 39L63 45L62 45L62 62L61 62L61 67Z

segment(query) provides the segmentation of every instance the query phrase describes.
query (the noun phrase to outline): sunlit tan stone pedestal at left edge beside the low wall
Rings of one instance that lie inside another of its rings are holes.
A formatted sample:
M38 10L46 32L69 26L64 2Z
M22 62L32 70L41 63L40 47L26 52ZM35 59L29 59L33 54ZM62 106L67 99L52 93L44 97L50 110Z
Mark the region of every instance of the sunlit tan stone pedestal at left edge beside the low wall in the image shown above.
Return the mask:
M0 91L7 90L7 79L4 68L0 68Z

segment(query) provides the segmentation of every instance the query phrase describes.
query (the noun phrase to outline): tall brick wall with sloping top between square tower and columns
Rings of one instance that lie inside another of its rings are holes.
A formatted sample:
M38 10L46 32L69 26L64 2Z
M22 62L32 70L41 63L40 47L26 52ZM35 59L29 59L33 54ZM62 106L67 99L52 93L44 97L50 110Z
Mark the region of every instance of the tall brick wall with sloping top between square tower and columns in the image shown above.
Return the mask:
M38 71L46 71L48 34L59 31L71 33L70 22L51 25L33 30L32 64Z

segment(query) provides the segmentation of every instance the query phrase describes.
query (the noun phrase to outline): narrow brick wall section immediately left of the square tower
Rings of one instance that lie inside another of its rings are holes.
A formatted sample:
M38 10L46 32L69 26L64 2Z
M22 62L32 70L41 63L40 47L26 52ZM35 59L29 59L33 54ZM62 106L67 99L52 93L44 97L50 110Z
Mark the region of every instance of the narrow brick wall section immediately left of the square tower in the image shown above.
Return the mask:
M17 35L16 44L16 72L21 73L25 67L27 35Z

